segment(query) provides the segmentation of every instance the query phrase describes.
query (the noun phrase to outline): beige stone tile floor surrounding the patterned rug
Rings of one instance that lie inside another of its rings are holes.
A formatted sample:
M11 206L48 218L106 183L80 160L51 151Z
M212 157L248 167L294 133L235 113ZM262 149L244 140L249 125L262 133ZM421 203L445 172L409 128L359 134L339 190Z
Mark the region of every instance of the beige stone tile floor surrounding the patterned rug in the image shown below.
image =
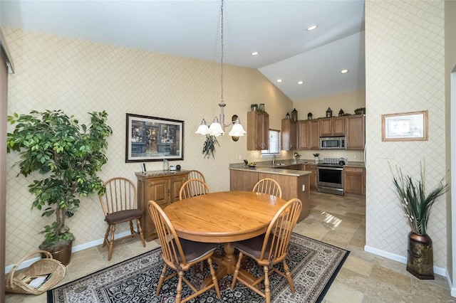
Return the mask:
M360 196L312 192L311 214L296 225L296 233L351 251L323 302L456 302L456 298L450 296L445 277L435 275L435 280L418 280L405 270L405 264L363 251L365 205L365 199ZM138 240L118 243L109 262L108 251L100 246L75 252L61 283L152 250L158 244L152 241L146 246L142 248ZM6 294L6 302L46 302L46 294Z

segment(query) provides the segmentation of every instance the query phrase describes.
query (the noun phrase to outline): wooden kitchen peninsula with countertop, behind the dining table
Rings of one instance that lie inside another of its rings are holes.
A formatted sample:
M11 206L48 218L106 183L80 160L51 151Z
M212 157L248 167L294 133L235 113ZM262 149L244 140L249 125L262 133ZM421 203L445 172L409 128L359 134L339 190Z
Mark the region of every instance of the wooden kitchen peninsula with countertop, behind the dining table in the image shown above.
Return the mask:
M289 164L293 165L293 164ZM287 166L284 164L283 166ZM289 201L299 198L302 202L301 216L303 220L310 213L310 185L311 171L284 169L281 166L272 166L271 161L258 162L250 168L244 164L229 164L230 191L252 191L255 184L261 179L271 178L277 181L282 190L282 198Z

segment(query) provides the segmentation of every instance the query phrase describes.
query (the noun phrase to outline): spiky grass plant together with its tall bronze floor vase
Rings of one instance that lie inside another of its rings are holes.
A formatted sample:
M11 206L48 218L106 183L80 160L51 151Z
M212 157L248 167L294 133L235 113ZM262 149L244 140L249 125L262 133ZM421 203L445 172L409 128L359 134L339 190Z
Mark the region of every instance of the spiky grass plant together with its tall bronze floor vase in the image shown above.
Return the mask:
M426 195L423 166L420 163L421 176L418 181L414 181L409 175L404 176L402 170L396 166L397 175L393 174L393 184L412 230L408 234L407 271L419 279L434 279L432 240L427 235L427 221L432 205L438 197L448 191L449 187L443 184L442 179Z

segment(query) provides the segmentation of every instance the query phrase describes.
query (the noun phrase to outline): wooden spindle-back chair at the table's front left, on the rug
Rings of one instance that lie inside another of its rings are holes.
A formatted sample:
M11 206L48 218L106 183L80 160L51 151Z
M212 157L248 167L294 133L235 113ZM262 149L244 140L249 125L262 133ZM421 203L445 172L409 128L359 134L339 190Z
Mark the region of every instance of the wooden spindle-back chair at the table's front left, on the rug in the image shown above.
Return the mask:
M160 280L158 280L157 291L155 296L160 294L160 289L162 289L163 282L170 280L172 277L178 275L179 280L177 282L177 294L175 297L175 302L187 302L194 297L197 297L199 294L206 292L207 290L214 287L217 297L220 297L219 282L215 276L214 267L212 267L212 253L215 248L217 248L217 243L200 243L190 240L185 240L179 238L177 233L172 226L172 223L167 218L166 213L160 208L160 206L155 203L155 201L149 201L148 204L149 215L152 218L155 227L157 228L157 235L160 240L160 245L162 245L162 259L165 262L163 265L162 273L160 275ZM190 283L184 277L184 272L190 270L190 268L195 265L197 262L207 260L209 264L210 275L212 277L212 284L207 285L202 289L196 289L194 285ZM166 276L167 268L170 267L175 272L172 272L170 275ZM193 294L182 299L182 280L190 287L193 291Z

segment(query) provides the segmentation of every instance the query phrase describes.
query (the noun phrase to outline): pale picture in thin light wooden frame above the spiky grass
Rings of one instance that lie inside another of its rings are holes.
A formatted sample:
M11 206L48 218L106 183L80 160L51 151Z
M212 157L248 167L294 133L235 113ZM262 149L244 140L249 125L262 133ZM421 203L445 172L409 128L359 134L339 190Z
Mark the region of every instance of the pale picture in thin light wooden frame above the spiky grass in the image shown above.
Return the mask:
M427 141L427 110L382 115L382 141Z

